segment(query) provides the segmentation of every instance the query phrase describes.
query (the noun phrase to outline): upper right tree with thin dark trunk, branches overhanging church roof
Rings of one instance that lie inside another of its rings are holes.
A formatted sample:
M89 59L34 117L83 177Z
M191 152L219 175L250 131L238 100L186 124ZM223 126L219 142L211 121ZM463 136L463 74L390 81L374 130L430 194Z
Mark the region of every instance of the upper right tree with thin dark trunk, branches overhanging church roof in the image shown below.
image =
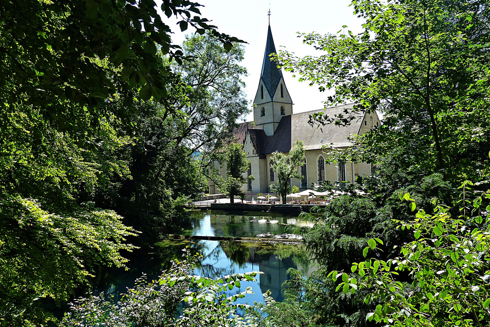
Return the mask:
M326 54L297 58L279 51L277 56L300 80L320 91L335 90L326 106L356 102L337 117L314 114L311 123L345 125L379 110L383 126L357 139L360 146L347 151L357 154L352 161L360 161L360 153L376 161L373 154L382 157L401 146L413 153L414 164L432 172L446 168L454 180L488 175L488 1L354 0L352 5L366 20L362 33L304 34L305 43Z

